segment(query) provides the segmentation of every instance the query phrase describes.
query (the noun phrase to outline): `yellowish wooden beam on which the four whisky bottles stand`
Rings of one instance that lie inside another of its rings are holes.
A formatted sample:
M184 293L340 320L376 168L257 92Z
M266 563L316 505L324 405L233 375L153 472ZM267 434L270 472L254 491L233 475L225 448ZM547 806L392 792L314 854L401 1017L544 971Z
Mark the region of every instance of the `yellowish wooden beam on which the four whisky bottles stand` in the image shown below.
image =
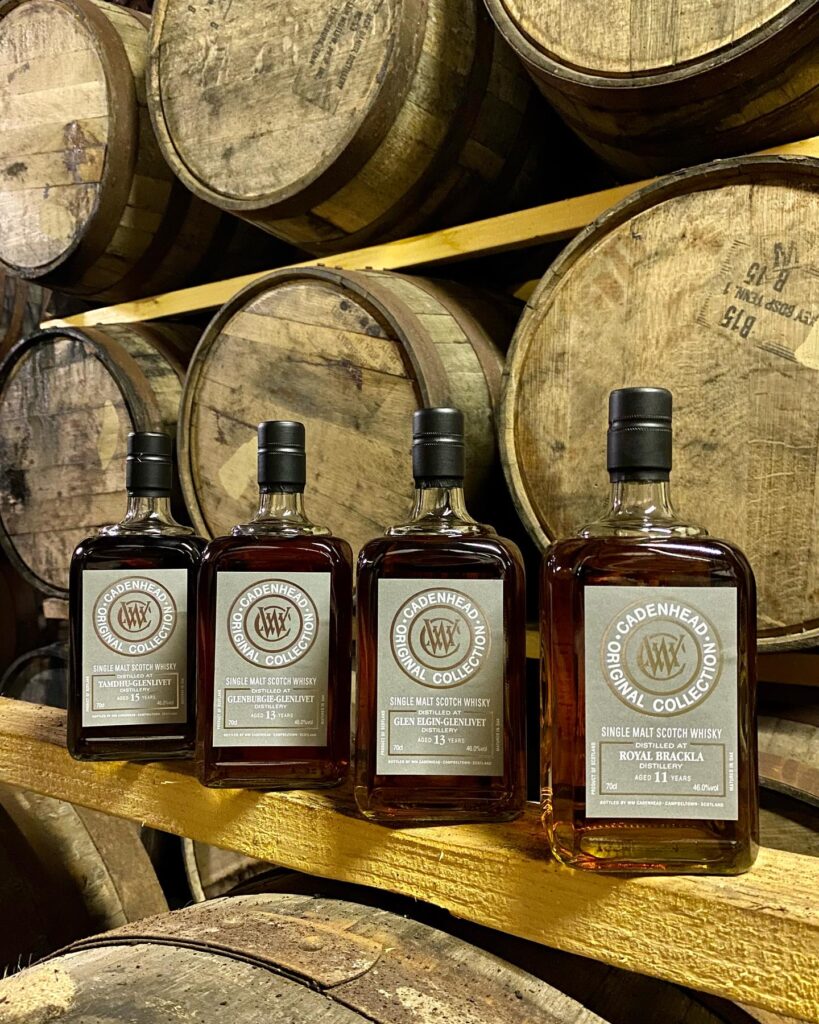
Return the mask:
M0 780L295 870L376 886L545 945L819 1022L819 858L763 849L738 878L617 878L506 825L385 828L349 793L205 790L185 764L77 763L64 713L0 698Z

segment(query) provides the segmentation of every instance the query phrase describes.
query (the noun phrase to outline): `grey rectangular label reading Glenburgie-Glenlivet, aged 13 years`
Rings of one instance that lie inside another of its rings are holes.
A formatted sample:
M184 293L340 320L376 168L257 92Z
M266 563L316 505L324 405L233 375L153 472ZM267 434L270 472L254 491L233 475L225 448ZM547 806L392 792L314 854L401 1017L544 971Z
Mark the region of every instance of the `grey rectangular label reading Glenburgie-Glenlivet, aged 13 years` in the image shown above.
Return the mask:
M218 572L214 746L326 746L329 572Z

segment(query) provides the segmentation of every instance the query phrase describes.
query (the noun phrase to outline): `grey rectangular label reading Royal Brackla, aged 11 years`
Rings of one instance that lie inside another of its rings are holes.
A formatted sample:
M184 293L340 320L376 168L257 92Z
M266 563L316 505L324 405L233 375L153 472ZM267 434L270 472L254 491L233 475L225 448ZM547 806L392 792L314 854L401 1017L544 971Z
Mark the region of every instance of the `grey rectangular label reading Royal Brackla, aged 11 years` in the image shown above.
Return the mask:
M738 816L730 587L587 587L586 815Z

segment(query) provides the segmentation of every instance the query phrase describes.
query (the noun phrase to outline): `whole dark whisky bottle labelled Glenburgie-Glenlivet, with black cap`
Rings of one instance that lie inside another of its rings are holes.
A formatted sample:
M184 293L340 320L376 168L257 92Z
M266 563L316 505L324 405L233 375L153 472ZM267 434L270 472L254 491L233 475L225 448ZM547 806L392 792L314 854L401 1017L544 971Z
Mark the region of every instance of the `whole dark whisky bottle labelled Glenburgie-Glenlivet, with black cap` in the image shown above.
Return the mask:
M259 510L213 541L200 575L200 778L341 782L350 754L352 552L305 515L304 426L259 426Z

